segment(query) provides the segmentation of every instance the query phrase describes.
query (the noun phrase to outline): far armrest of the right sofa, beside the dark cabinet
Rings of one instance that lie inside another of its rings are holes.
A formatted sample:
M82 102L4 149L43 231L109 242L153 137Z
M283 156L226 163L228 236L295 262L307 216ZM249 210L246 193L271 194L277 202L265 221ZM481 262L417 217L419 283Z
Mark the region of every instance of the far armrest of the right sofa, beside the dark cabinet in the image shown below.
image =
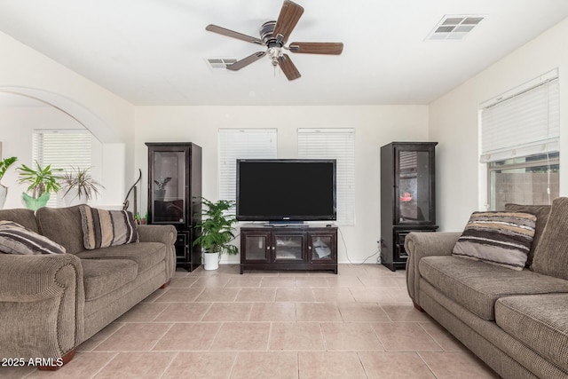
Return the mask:
M420 286L420 272L418 263L423 257L450 256L455 242L461 232L438 233L408 233L405 238L406 259L406 288L414 304L420 305L418 299Z

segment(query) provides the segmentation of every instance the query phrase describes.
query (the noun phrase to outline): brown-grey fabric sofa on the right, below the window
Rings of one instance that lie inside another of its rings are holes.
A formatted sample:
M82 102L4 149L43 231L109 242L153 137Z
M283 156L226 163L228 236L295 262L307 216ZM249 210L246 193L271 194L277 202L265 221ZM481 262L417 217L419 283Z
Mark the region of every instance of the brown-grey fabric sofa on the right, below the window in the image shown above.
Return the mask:
M410 233L414 306L505 378L568 377L568 198L508 204L536 216L525 268L453 255L463 233Z

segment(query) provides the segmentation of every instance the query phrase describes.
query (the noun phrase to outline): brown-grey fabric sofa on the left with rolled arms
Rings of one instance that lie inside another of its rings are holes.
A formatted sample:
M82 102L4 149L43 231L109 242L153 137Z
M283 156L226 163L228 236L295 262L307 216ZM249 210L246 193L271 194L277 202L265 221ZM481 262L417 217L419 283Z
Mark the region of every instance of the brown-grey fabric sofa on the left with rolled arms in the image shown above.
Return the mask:
M0 356L57 369L75 348L165 287L176 268L171 225L138 225L139 242L85 250L79 206L0 210L65 247L66 254L0 253Z

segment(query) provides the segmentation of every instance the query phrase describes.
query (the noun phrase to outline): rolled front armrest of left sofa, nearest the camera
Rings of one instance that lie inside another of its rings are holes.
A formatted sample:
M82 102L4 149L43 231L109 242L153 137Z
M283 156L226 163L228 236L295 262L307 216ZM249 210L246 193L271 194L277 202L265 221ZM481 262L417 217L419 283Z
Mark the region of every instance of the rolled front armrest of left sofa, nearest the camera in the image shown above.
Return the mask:
M72 254L0 254L0 356L59 359L83 342L83 267Z

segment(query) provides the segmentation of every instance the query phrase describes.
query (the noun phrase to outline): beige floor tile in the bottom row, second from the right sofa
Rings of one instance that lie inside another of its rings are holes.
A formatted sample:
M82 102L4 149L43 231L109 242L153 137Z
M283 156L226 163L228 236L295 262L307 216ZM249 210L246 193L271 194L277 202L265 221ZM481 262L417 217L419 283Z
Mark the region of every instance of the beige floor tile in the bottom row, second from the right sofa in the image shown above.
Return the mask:
M415 352L359 352L368 379L434 379Z

